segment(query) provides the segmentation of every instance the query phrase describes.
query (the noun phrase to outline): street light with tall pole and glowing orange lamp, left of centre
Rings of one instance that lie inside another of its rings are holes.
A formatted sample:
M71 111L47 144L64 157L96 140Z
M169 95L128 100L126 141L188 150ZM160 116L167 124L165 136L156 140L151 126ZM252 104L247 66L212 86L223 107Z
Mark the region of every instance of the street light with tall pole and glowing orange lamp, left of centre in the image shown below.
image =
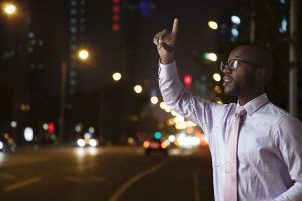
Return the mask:
M88 51L82 50L79 52L79 57L81 59L88 58ZM61 63L61 100L60 100L60 117L59 117L59 141L63 141L63 132L64 132L64 114L65 114L65 90L66 90L66 66L67 61L64 59Z

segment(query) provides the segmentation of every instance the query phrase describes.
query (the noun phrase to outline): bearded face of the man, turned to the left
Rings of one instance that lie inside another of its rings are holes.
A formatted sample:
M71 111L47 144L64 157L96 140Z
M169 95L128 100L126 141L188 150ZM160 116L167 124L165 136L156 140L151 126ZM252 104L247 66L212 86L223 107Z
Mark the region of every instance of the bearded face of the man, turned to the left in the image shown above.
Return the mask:
M238 58L241 60L250 61L247 52L242 50L233 50L228 60ZM240 62L238 68L231 70L230 66L227 66L224 70L224 93L225 95L240 96L246 93L253 93L255 87L255 67L249 64Z

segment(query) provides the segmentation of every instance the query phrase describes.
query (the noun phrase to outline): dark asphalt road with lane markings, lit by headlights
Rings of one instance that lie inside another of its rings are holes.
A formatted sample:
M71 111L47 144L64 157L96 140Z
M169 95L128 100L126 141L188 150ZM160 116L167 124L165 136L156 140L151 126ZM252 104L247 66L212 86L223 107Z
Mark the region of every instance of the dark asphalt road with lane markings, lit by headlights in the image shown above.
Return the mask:
M213 200L208 148L145 156L140 147L0 154L0 200Z

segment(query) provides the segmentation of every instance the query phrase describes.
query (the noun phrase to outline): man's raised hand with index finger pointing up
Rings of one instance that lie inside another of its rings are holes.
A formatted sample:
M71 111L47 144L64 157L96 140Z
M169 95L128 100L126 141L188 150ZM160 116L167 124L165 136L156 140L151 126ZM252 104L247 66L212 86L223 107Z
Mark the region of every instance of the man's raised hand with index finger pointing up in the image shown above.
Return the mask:
M174 61L174 52L176 49L178 19L174 19L172 32L167 29L155 34L153 42L157 45L158 52L161 56L161 62L168 64Z

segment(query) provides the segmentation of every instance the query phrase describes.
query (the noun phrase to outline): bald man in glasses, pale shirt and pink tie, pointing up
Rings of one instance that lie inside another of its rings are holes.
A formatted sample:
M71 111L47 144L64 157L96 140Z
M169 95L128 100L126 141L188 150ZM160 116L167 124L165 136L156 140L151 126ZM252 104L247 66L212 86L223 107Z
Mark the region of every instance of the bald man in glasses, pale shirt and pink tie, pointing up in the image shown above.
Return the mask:
M154 37L161 56L159 86L166 104L200 125L208 138L215 200L302 200L302 123L268 101L264 88L273 71L271 55L252 45L235 48L219 65L224 93L238 102L208 103L185 91L179 80L177 29L175 19L171 33L165 29Z

